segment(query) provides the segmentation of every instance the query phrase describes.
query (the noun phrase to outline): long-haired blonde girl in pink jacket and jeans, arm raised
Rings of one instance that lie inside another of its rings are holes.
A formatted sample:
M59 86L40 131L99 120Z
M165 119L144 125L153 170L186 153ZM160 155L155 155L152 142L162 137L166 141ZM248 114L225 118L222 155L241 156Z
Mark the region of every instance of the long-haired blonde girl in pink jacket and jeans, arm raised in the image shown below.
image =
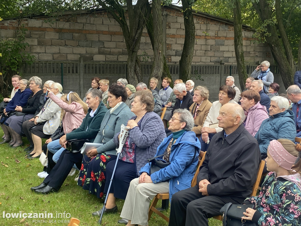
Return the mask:
M60 158L62 151L64 150L59 143L60 138L65 136L65 134L70 133L72 130L77 129L82 124L82 120L85 118L88 112L88 106L80 99L77 93L73 92L68 93L66 102L59 99L50 90L48 90L48 97L62 108L61 130L57 130L56 133L51 135L51 137L45 142L48 144L47 148L48 155L50 155L49 157L53 155L52 160L56 163ZM49 152L51 153L49 154ZM51 161L51 159L48 158L48 161ZM51 169L49 169L48 172L50 170ZM48 173L46 171L38 173L38 176L42 178L45 178L47 175Z

